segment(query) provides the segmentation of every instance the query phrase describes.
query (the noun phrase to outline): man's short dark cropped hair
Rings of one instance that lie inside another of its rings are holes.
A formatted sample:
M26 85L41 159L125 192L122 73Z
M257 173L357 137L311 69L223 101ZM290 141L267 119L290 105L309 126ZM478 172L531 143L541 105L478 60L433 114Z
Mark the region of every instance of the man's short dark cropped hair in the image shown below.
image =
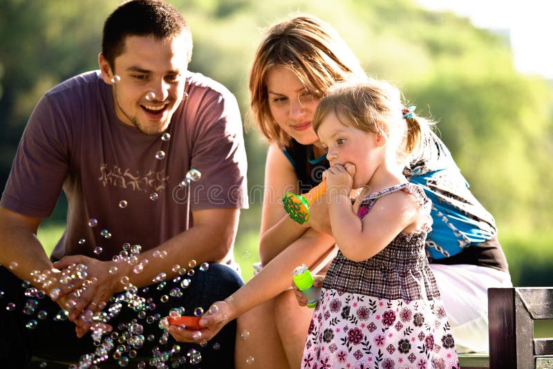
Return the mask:
M188 62L192 56L192 36L184 17L176 8L161 0L131 0L122 3L104 23L102 54L113 70L115 58L124 53L126 37L149 36L171 39L181 34L189 42Z

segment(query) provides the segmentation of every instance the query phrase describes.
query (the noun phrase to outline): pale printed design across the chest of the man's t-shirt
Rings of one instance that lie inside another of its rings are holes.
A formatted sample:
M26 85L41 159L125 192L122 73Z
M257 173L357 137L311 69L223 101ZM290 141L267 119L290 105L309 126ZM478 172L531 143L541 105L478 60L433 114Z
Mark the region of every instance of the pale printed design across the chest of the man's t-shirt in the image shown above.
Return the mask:
M138 173L131 169L121 169L118 165L109 168L108 164L100 166L100 183L107 186L121 187L123 189L133 189L133 191L148 192L161 191L167 187L169 176L165 176L162 171L154 172L149 170L147 173Z

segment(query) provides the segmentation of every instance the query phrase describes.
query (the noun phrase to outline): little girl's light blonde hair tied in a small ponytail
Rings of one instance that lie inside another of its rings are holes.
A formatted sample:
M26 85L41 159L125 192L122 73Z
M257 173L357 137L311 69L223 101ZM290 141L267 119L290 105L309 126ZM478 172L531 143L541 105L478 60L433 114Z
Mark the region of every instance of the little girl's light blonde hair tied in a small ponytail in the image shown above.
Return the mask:
M328 113L334 113L346 126L384 135L397 149L398 163L405 165L420 153L422 140L434 122L411 111L404 118L404 108L400 91L388 82L344 82L330 88L319 102L312 118L313 129L317 133Z

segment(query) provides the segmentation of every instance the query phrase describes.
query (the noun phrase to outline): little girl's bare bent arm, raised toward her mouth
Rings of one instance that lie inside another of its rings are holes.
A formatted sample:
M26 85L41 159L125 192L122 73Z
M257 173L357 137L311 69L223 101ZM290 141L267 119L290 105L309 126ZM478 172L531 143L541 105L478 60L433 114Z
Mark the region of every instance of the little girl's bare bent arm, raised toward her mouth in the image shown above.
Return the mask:
M329 211L332 234L340 251L352 261L364 261L380 252L401 231L419 226L418 202L404 191L379 198L371 211L359 219L342 193L333 193Z

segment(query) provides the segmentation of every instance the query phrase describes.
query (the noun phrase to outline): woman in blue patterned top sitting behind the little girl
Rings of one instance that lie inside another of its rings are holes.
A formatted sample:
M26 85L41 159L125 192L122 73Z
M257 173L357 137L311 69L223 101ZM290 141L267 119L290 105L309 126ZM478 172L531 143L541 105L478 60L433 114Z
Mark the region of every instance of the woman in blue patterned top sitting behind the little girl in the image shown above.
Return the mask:
M312 310L299 307L290 287L294 267L324 274L335 253L324 196L310 219L294 223L282 206L285 192L305 192L328 168L311 126L328 88L366 79L358 59L327 23L292 15L265 32L250 71L252 118L269 142L259 255L263 269L203 319L212 337L238 317L236 366L298 368ZM442 292L458 352L487 350L487 288L511 285L494 218L471 195L451 154L433 133L404 176L433 200L427 254ZM320 272L322 269L322 273ZM169 330L177 339L189 332ZM246 337L246 338L244 338Z

